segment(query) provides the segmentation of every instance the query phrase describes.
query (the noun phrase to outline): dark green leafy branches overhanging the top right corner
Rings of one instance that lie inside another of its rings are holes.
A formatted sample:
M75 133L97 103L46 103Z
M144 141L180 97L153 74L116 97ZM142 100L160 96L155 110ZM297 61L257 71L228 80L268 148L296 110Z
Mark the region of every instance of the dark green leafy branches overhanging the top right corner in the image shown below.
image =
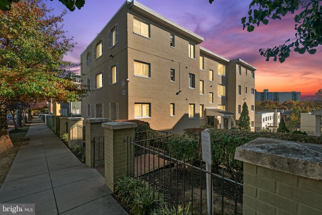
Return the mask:
M209 0L210 4L214 0ZM316 52L315 47L322 44L322 6L320 0L253 0L250 4L248 17L243 17L241 23L244 29L252 32L255 25L267 25L269 20L281 20L286 14L294 14L295 39L287 39L284 44L274 48L260 49L260 54L282 63L289 57L291 49L300 54L306 51Z

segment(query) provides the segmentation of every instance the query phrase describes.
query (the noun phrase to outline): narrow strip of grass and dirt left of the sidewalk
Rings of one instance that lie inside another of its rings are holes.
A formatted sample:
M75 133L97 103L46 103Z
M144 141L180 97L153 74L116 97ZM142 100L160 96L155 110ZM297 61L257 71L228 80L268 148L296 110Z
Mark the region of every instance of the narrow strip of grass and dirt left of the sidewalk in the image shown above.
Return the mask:
M0 183L4 183L6 176L14 162L16 155L20 149L20 146L25 138L25 135L29 129L30 125L24 125L18 130L9 131L9 136L11 138L14 148L3 152L0 156Z

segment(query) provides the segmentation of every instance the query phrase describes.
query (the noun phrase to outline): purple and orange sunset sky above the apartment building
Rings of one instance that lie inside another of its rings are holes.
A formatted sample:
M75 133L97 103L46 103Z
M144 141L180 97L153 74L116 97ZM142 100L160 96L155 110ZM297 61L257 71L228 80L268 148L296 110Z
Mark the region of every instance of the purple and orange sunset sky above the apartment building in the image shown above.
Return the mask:
M80 55L95 36L114 16L125 0L86 0L85 6L64 16L67 38L73 37L73 52L66 60L80 61ZM322 88L322 47L314 55L291 52L285 62L266 61L259 54L260 48L283 44L294 39L294 15L271 21L268 25L255 28L254 32L243 31L241 18L248 16L250 1L215 0L140 0L162 16L199 34L204 38L202 47L228 59L240 58L258 68L255 72L255 88L258 92L301 92L302 99L314 95ZM47 0L46 5L58 14L66 9L58 0ZM67 9L66 9L67 10Z

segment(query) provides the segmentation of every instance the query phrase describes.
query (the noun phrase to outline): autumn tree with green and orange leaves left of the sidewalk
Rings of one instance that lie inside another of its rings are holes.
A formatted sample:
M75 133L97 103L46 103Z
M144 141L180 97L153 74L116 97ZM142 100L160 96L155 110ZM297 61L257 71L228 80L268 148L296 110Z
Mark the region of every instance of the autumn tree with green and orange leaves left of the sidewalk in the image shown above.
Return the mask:
M63 79L72 62L62 60L74 44L62 31L63 15L49 16L40 0L13 3L0 10L0 152L12 147L7 104L55 99L76 101L85 88Z

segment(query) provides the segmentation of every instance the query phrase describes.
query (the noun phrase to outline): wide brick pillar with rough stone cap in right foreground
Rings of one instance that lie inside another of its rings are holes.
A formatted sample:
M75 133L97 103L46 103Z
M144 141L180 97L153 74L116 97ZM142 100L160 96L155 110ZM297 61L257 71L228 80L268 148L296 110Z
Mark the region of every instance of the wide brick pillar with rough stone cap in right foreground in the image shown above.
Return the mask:
M322 214L322 146L257 138L237 147L244 162L243 214Z

